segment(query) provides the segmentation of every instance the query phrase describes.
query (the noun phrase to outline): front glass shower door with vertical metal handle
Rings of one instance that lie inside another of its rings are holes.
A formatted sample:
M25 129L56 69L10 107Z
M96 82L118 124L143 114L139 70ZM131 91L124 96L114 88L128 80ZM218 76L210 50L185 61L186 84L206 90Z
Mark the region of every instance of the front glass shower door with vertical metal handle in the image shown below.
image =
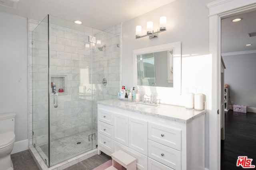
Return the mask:
M91 27L50 16L50 166L92 150L89 35Z

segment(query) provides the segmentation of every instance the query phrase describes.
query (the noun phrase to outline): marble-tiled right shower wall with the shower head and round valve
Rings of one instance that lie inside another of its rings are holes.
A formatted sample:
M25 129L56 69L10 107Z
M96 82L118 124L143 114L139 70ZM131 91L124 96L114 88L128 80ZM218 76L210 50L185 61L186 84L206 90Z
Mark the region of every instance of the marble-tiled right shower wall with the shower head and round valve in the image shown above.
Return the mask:
M106 45L103 51L93 51L93 128L97 130L98 107L97 101L116 99L119 92L120 81L120 49L121 49L121 23L95 34L96 39L101 39L101 45ZM119 45L119 47L118 47ZM102 84L103 78L107 84Z

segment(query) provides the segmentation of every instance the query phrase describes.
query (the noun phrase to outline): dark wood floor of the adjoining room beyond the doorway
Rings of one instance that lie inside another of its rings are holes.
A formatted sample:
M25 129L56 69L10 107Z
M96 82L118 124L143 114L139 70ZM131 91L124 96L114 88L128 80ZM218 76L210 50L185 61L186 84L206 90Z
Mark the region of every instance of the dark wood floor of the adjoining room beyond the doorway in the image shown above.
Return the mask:
M236 166L238 156L248 156L256 165L256 113L229 110L225 113L225 140L221 141L221 170L244 169Z

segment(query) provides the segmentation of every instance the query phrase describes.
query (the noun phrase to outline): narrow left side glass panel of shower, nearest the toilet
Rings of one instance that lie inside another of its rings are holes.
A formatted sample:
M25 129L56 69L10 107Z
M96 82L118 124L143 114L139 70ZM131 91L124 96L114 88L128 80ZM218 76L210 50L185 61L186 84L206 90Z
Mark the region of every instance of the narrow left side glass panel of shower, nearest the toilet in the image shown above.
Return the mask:
M32 31L31 43L32 143L49 166L48 16Z

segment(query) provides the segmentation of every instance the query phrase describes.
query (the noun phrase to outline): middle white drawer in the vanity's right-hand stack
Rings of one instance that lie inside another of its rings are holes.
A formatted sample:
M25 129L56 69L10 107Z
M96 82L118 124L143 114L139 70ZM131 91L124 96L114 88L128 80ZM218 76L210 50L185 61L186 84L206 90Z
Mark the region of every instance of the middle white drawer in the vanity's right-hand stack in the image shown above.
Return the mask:
M181 169L181 152L148 140L148 156L175 170Z

